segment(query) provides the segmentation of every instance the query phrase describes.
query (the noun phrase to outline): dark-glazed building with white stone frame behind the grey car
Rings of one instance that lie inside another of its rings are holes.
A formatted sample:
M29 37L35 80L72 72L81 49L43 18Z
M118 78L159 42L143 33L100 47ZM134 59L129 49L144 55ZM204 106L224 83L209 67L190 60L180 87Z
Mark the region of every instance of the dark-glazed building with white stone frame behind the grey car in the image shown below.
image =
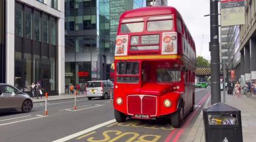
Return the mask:
M64 93L64 2L4 1L5 82L24 92L39 82L49 95Z

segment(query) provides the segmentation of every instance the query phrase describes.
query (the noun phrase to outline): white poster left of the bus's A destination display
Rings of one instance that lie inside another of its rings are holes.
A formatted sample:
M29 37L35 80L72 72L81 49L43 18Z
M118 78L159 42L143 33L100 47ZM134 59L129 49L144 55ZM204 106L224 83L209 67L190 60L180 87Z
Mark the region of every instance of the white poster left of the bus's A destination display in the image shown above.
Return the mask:
M127 56L128 35L117 35L115 40L115 56Z

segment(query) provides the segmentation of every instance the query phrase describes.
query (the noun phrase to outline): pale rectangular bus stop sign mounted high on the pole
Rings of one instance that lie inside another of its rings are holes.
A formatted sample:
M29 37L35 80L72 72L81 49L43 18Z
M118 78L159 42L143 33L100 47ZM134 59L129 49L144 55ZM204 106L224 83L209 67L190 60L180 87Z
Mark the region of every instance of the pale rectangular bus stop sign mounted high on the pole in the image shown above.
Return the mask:
M221 26L245 24L244 0L221 0Z

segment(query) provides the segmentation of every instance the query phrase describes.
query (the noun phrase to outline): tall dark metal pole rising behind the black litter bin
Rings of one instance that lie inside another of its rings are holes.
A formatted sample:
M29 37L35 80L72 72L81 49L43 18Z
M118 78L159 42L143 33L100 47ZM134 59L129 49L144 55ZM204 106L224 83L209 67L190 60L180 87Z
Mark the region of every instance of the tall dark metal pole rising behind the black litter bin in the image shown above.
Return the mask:
M220 49L218 41L218 0L210 0L211 104L220 102Z

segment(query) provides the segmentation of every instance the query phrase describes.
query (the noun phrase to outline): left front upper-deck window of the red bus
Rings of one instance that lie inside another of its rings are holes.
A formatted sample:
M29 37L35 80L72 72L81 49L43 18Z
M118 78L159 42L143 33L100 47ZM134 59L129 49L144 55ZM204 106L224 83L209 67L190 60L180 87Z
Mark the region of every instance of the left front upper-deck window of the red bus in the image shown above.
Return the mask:
M144 28L144 22L133 22L121 24L121 33L135 33L142 32Z

